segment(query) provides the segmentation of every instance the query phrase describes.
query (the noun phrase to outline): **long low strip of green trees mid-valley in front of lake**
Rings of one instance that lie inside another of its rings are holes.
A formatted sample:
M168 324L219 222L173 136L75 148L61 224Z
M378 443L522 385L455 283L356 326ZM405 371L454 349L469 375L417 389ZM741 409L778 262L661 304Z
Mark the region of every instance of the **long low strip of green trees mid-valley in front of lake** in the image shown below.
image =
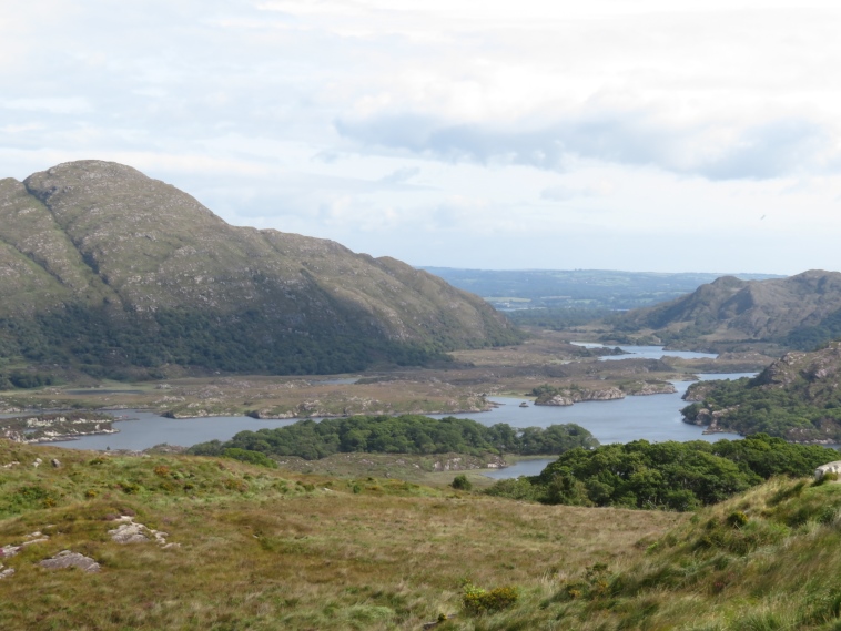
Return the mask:
M276 429L241 431L225 442L202 442L191 447L189 452L221 456L226 449L243 449L315 460L346 452L555 455L596 446L598 441L592 435L575 424L520 429L501 423L488 427L452 416L434 419L403 415L325 418L320 423L300 420Z

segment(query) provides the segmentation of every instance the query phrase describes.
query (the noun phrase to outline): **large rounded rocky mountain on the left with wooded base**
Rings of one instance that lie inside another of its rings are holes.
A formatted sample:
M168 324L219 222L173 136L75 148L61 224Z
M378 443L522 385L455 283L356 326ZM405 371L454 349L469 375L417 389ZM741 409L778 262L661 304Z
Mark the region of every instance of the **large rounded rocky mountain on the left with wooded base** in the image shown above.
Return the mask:
M7 365L97 376L324 374L518 339L479 297L399 261L234 227L100 161L0 180L0 296Z

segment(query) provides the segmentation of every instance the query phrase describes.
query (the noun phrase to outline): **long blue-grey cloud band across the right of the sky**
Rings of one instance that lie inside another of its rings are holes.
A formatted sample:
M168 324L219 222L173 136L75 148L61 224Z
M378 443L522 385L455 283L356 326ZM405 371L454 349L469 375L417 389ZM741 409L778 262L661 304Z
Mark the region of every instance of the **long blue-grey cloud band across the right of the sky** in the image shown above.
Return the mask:
M713 123L659 122L640 112L585 114L534 124L453 123L399 113L340 119L361 147L398 150L450 162L565 171L577 160L655 166L708 180L767 180L838 163L834 130L783 119L732 130Z

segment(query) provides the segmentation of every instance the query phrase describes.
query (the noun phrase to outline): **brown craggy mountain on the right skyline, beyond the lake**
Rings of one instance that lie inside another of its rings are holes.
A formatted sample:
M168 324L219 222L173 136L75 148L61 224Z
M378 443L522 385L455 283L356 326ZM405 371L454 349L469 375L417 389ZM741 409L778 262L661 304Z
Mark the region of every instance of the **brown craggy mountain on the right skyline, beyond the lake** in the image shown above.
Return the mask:
M653 330L669 344L723 347L773 343L810 349L841 336L841 273L788 278L723 276L691 294L616 319L619 330Z

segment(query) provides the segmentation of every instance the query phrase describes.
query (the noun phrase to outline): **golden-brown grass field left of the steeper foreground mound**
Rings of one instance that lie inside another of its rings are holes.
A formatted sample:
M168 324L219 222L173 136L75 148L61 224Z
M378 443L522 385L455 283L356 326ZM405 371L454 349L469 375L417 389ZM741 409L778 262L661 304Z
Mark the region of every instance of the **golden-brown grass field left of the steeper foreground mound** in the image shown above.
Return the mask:
M48 466L32 467L36 457ZM466 629L501 613L465 617L465 580L517 586L528 598L591 559L639 556L640 540L683 519L0 441L0 465L11 460L21 465L2 470L0 497L36 486L45 496L4 508L0 545L36 530L51 538L3 561L17 570L0 581L4 629L417 629L439 613L460 614L442 628ZM110 541L103 518L129 511L181 548ZM63 549L102 572L34 564Z

